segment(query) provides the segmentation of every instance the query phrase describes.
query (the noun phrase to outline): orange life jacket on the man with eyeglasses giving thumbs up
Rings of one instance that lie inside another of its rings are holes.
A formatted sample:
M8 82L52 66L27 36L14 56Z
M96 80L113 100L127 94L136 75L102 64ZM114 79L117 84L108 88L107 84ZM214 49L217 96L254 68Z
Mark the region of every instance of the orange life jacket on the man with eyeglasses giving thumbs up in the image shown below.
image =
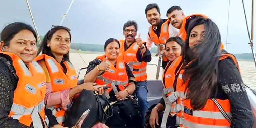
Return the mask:
M125 41L120 40L119 43L120 54L118 59L122 59L128 64L136 81L145 81L147 79L147 63L137 60L136 54L139 50L137 43L133 43L126 51L124 49Z

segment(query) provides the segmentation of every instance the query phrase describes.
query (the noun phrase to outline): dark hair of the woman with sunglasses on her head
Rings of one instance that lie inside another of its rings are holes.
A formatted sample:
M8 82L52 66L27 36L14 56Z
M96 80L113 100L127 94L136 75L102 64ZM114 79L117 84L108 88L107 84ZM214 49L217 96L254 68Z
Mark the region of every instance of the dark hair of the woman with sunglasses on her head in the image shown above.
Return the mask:
M46 54L48 56L51 56L55 59L53 53L51 52L51 48L47 47L47 42L50 41L53 37L53 34L58 31L58 30L66 30L69 33L70 36L70 41L71 41L71 34L70 34L70 29L64 26L56 26L54 28L52 28L51 30L49 30L46 35L44 36L44 39L42 41L42 44L40 45L38 51L37 51L37 55L39 55L41 52L42 54ZM69 61L69 52L65 55L63 55L62 61Z

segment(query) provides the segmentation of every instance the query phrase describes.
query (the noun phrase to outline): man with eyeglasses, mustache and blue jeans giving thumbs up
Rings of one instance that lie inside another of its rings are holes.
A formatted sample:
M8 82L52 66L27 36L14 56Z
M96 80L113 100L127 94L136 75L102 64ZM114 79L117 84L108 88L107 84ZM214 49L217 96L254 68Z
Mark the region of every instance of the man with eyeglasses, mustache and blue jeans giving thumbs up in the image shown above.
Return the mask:
M146 47L146 42L143 42L140 38L140 34L137 38L137 23L135 21L128 21L124 24L123 35L125 40L120 40L120 55L119 59L123 59L130 67L135 80L135 94L138 98L139 105L141 107L142 123L144 122L144 116L149 107L147 101L147 62L151 61L150 51ZM130 80L129 80L130 81ZM142 124L144 127L144 123Z

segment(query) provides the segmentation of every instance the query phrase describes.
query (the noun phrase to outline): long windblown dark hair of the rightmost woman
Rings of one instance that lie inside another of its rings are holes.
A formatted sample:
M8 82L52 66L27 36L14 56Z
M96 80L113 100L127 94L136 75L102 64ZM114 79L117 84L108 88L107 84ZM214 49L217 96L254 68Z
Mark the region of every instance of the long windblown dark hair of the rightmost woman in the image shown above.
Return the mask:
M205 36L198 46L191 49L190 32L198 25L204 25ZM183 82L188 82L186 98L191 100L190 105L194 110L202 109L216 89L220 46L221 35L211 19L198 17L190 22L182 52L185 69Z

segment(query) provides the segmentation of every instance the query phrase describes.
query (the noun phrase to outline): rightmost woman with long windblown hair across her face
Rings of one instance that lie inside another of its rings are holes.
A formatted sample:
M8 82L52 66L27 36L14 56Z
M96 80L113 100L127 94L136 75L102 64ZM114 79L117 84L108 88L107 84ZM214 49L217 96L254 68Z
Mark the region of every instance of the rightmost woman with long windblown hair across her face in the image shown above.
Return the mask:
M217 25L195 18L187 33L182 56L169 67L173 77L163 91L166 115L176 115L178 127L252 128L254 118L237 60L221 51Z

